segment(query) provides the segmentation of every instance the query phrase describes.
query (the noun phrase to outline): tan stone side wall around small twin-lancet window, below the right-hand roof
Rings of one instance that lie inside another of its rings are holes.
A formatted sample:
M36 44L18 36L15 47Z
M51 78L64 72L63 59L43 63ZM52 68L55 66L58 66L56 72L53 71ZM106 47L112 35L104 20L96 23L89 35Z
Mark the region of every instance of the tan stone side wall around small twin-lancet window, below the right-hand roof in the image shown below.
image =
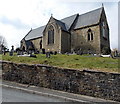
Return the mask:
M88 30L93 33L93 40L88 41ZM100 28L99 25L83 29L77 29L72 32L71 36L72 50L81 50L83 53L100 53Z

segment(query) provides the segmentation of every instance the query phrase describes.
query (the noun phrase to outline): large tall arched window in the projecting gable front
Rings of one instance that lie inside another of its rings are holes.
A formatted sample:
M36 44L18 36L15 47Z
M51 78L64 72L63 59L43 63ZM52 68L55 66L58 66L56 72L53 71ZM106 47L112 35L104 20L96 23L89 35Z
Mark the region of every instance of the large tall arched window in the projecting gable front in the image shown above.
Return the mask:
M48 29L48 44L54 44L54 28L52 25Z

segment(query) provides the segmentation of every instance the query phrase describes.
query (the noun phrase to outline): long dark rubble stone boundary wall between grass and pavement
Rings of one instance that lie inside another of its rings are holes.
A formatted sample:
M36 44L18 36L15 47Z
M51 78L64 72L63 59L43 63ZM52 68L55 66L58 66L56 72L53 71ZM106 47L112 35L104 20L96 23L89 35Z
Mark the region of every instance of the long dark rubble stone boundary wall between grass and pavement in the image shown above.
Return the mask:
M120 101L120 74L2 62L4 80Z

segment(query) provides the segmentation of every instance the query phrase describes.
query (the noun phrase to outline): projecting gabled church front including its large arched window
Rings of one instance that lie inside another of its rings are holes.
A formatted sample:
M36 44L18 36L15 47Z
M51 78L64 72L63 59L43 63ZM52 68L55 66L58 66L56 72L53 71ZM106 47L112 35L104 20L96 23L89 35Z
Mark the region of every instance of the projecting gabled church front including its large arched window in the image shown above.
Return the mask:
M61 49L61 30L66 29L64 23L59 23L58 20L51 16L44 31L42 47L45 51L59 51Z

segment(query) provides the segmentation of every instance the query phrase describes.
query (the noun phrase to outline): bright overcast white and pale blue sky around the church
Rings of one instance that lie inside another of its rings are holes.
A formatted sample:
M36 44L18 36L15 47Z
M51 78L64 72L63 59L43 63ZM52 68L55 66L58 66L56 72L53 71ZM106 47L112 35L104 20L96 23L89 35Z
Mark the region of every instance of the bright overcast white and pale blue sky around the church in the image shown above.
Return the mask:
M111 49L118 48L118 0L0 0L0 35L6 38L9 49L12 45L16 48L31 28L45 25L51 14L62 19L100 8L102 3L110 27Z

